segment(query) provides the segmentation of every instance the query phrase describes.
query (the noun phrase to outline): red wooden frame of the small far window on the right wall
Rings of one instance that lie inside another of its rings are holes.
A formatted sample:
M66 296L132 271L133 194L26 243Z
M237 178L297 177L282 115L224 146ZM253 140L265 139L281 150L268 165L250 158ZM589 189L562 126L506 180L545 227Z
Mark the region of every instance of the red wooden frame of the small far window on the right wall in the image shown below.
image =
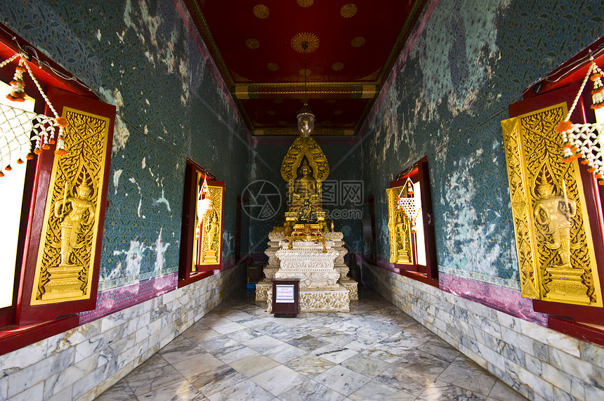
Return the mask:
M426 284L438 287L438 265L436 263L436 244L434 238L434 218L432 212L432 195L430 190L430 176L428 173L428 157L422 157L409 169L399 173L395 181L390 182L390 188L402 187L407 178L414 183L419 182L421 197L421 214L424 218L424 246L426 247L426 266L395 263L395 267L405 277L420 280ZM412 235L413 260L417 261L416 235Z

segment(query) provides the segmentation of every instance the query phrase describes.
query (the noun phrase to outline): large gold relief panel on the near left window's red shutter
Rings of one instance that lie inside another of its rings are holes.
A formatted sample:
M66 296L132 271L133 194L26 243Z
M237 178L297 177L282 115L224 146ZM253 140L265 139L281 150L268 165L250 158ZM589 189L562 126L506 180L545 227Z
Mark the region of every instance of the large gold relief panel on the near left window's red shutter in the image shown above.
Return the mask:
M69 107L63 117L71 147L53 162L32 305L90 296L110 121Z

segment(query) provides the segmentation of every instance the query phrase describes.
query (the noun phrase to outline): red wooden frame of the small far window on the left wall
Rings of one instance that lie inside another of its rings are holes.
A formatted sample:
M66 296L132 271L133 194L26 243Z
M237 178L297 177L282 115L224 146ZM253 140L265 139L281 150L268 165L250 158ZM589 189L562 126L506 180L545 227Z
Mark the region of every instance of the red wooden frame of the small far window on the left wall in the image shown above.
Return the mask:
M185 168L185 189L183 191L183 223L180 232L180 266L178 268L178 288L202 280L214 274L214 270L222 268L222 251L223 241L221 240L221 261L216 265L197 265L197 272L191 271L193 264L193 246L195 242L195 213L197 213L197 173L201 173L208 181L208 185L223 187L223 202L221 213L221 235L224 230L224 186L222 181L214 181L214 176L211 176L207 171L187 159Z

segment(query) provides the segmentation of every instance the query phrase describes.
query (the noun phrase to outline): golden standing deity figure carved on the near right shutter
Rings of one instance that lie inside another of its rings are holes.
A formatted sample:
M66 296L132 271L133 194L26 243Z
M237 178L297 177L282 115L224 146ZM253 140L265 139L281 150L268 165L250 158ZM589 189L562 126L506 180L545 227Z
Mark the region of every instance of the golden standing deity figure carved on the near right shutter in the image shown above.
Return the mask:
M577 203L566 196L553 195L553 185L545 176L541 176L541 183L537 186L539 199L534 204L534 219L542 228L550 242L544 245L556 251L560 256L560 268L572 268L570 264L570 228L572 218L577 214Z

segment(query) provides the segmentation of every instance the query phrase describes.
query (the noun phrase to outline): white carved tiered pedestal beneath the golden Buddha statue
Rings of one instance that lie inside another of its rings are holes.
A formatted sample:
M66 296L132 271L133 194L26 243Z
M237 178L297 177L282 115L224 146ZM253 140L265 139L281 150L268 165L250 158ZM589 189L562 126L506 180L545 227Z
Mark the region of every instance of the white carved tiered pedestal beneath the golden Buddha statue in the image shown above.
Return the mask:
M269 239L277 237L279 235L273 235ZM343 260L343 256L346 255L346 249L341 240L343 234L328 232L325 237L329 239L325 241L324 246L319 241L301 240L292 242L290 247L289 241L283 239L278 242L279 247L276 249L275 244L271 244L272 241L269 242L269 249L267 249L269 264L265 268L267 277L262 283L265 285L265 290L262 289L261 294L258 294L260 291L256 286L256 299L258 300L259 296L265 294L268 313L272 311L273 306L273 278L300 280L299 305L301 312L346 312L350 310L350 300L358 299L358 292L357 282L346 277L348 266ZM275 267L271 265L271 255L278 260L279 267L276 271Z

